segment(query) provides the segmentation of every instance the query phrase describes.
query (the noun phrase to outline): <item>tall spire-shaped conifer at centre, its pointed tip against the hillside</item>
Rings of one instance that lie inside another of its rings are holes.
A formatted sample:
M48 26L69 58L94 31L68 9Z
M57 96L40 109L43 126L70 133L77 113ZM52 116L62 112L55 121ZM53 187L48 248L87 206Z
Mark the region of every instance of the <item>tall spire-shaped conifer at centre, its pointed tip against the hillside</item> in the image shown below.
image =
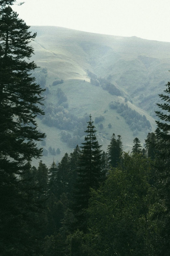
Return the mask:
M78 225L81 225L85 221L84 209L88 207L88 201L90 198L90 189L97 189L104 180L102 173L102 150L101 145L96 140L92 116L90 115L90 121L88 122L87 135L85 136L85 142L82 143L80 163L78 169L78 178L75 184L74 191L74 212L78 218ZM83 224L84 225L84 224Z

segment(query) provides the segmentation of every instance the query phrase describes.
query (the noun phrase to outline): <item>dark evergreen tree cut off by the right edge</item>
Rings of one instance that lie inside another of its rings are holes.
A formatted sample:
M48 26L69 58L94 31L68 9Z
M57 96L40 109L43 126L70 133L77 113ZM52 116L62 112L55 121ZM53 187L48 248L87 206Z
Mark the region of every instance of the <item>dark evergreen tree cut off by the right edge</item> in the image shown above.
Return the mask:
M159 213L162 220L160 230L162 246L159 255L168 255L170 251L170 82L167 83L164 93L159 94L164 103L157 104L163 111L155 111L161 119L156 121L158 128L155 131L155 182L159 189L161 200L165 202L165 208Z

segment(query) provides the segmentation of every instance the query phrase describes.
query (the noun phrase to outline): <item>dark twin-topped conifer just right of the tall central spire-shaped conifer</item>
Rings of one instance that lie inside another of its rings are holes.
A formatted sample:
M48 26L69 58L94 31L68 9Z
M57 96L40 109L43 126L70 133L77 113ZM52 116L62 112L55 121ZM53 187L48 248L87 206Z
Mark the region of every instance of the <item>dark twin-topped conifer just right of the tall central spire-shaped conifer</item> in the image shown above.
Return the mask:
M116 140L115 134L113 133L110 145L108 145L107 148L107 153L111 166L117 167L122 153L122 141L120 135L118 135L118 139Z

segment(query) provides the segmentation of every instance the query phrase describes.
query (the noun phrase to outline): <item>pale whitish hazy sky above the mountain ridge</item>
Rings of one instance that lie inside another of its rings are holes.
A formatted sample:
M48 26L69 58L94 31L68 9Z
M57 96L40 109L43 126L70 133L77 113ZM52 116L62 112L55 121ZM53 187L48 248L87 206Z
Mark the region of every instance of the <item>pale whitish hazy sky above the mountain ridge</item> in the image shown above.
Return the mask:
M13 9L27 25L170 42L170 0L25 0Z

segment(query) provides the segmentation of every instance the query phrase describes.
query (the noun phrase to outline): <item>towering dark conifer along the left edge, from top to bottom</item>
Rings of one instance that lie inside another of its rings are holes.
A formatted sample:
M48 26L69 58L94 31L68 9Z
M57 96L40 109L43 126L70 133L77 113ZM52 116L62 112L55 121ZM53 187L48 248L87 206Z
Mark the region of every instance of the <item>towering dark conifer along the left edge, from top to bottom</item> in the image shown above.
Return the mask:
M0 1L0 252L40 255L39 203L25 163L42 154L36 142L45 134L37 130L35 117L44 114L38 106L44 90L31 76L36 64L29 61L30 42L36 34L7 6L14 2Z

